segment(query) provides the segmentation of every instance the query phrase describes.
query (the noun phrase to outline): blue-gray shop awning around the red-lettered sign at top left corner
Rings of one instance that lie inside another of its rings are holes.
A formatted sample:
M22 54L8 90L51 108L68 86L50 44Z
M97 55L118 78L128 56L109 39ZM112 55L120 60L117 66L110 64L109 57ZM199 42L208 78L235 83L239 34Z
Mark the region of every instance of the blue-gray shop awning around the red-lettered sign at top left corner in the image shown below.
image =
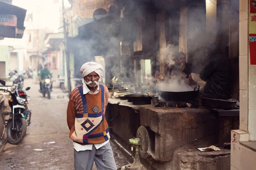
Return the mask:
M0 14L15 15L17 17L17 32L16 38L22 38L25 30L24 20L26 17L26 9L14 6L10 3L5 3L0 0ZM4 26L8 28L9 26ZM12 37L15 38L15 37Z

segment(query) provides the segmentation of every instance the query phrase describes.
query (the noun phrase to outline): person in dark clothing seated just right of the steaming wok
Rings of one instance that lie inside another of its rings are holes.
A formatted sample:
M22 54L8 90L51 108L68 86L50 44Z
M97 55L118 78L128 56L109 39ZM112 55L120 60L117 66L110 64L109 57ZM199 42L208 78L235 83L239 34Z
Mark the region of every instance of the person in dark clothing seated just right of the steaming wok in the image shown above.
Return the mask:
M207 62L200 74L192 73L189 79L200 85L201 96L212 99L230 99L230 68L228 59L221 56L218 45L207 48Z

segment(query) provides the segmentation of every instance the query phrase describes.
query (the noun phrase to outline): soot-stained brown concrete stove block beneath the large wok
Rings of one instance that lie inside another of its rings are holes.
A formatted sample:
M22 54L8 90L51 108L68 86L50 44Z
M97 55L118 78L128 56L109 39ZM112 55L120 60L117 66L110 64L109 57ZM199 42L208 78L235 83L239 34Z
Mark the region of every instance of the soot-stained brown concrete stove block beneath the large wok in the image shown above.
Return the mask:
M231 129L239 126L232 124L233 119L238 118L220 118L204 108L156 108L154 105L140 107L140 125L147 127L150 137L149 153L160 162L171 161L174 154L172 149L182 144L207 147L212 144L222 146L225 142L230 142ZM228 124L230 126L221 129ZM191 142L198 138L201 139ZM166 150L171 151L165 152Z

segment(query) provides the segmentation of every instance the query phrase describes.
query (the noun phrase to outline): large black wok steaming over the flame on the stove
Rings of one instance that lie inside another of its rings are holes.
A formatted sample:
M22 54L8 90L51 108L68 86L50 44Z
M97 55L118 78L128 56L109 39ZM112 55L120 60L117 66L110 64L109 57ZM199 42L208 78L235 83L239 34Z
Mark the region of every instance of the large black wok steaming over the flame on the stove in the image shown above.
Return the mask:
M196 88L198 88L198 90L196 90ZM198 97L199 85L195 87L194 91L158 91L158 93L165 101L188 102Z

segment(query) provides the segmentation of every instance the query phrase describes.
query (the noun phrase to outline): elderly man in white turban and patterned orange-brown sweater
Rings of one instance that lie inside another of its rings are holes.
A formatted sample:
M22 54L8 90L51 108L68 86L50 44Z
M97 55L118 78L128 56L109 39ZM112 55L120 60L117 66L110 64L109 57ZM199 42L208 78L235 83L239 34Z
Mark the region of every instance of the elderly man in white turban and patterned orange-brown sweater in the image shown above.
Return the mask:
M93 161L98 170L116 170L105 119L109 93L99 84L102 71L102 65L86 62L80 69L83 85L70 93L67 125L74 144L75 170L92 170Z

